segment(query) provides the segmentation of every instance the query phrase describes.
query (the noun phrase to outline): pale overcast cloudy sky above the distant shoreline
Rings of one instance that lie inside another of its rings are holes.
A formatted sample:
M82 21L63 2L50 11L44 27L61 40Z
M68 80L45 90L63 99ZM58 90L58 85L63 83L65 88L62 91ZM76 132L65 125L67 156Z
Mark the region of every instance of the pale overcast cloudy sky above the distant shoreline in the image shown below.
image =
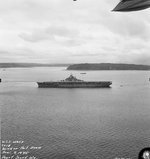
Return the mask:
M0 62L150 65L150 9L119 0L0 0Z

